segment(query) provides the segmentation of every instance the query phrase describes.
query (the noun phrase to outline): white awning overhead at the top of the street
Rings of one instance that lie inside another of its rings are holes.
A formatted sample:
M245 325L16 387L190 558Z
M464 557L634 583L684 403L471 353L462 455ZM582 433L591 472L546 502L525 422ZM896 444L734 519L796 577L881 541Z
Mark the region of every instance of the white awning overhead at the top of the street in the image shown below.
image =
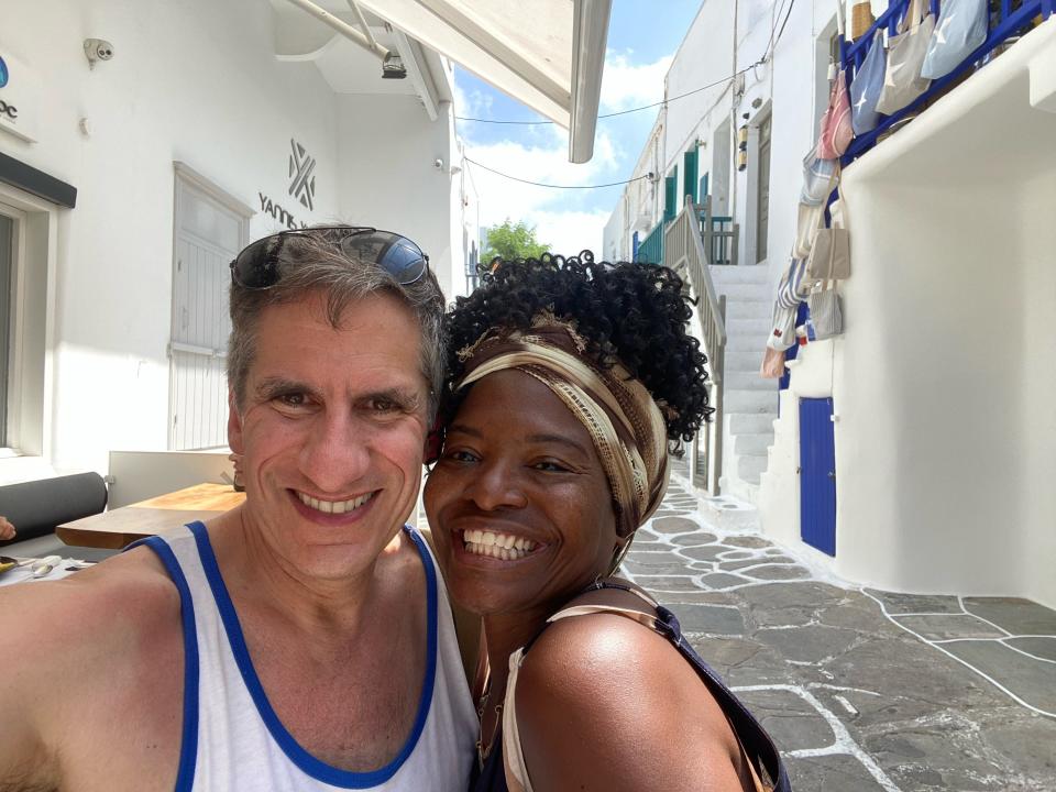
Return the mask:
M569 130L569 160L587 162L612 0L356 0Z

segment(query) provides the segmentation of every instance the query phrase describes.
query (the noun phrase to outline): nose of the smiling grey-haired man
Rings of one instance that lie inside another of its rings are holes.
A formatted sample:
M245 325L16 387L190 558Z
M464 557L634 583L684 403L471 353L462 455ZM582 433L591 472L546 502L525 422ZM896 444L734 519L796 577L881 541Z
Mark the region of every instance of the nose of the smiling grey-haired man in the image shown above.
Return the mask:
M321 414L301 449L301 471L322 493L340 494L370 469L371 437L349 415Z

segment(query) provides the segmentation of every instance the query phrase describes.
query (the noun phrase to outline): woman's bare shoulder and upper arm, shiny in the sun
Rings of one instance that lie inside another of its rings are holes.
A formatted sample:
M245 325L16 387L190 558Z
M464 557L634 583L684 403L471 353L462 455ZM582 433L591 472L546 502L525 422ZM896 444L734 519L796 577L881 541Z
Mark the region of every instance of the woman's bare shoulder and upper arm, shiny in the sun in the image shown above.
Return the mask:
M714 696L667 638L626 616L550 625L525 656L516 707L536 792L743 789Z

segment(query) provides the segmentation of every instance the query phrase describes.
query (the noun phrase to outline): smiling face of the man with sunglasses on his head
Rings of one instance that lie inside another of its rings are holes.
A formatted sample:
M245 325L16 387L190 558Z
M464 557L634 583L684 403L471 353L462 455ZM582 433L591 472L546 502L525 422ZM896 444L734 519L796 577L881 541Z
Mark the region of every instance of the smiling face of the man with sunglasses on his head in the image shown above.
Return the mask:
M428 384L417 322L395 298L352 302L339 329L324 305L263 310L228 433L250 529L299 573L337 580L369 569L410 514Z

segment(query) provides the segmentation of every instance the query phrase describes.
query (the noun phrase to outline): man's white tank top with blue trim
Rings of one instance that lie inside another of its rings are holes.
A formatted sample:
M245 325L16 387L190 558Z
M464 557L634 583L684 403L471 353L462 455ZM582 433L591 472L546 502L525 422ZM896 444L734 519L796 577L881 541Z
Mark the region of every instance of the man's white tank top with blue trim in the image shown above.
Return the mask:
M350 772L322 762L285 729L267 701L209 536L193 522L144 542L183 604L184 732L176 792L452 792L469 787L476 713L462 672L448 596L429 548L413 528L426 571L428 658L414 728L385 767Z

